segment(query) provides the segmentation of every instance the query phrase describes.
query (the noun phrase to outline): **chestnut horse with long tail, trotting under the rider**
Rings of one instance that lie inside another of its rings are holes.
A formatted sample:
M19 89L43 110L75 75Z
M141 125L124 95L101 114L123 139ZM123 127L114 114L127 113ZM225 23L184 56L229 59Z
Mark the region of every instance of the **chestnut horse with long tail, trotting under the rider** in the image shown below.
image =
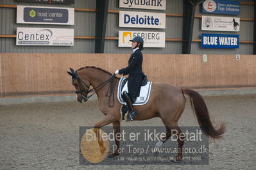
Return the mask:
M120 79L110 72L95 66L86 66L76 71L71 68L71 72L67 73L72 76L78 102L87 102L89 98L88 94L92 91L92 89L89 89L90 86L92 86L97 94L99 109L105 114L105 118L94 125L96 135L100 136L99 128L110 123L113 124L114 133L119 133L121 104L117 100L117 86ZM105 86L107 84L109 86ZM110 93L110 95L107 95L107 93ZM219 128L212 125L203 98L199 93L191 89L180 89L164 82L153 82L148 103L134 106L135 111L138 113L138 116L134 120L148 120L159 117L164 123L167 131L166 137L158 142L156 147L160 147L162 143L166 142L171 137L171 132L178 132L176 134L178 136L179 151L176 160L178 161L182 160L182 146L184 144L182 135L180 135L182 131L178 127L178 120L185 108L184 94L190 97L191 107L194 109L201 130L213 139L220 139L225 132L225 125L221 123ZM103 145L101 137L98 139L98 144L101 153L104 153L106 148ZM119 155L119 139L115 138L115 144L117 148L108 157Z

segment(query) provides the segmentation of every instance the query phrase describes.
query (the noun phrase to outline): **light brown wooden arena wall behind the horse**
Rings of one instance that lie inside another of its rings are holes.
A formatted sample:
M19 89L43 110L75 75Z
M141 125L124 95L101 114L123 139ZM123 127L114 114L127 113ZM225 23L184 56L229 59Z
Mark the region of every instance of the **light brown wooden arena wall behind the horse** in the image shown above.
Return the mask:
M69 67L98 66L109 72L127 65L130 54L0 53L0 98L73 95ZM149 81L180 88L256 88L256 56L144 54Z

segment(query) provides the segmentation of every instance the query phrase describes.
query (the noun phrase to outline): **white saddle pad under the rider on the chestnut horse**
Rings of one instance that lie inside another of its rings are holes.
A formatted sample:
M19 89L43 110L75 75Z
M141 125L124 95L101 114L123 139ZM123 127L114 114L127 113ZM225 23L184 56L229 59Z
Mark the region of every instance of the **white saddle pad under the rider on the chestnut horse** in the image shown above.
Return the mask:
M126 79L126 78L121 77L121 79L119 81L118 89L117 89L117 98L121 104L126 105L126 102L124 102L124 100L122 98L122 93L123 93L123 91L127 91L129 93L129 91L128 91L128 85L127 85L128 81L124 84L124 88L121 90L121 86L122 86L124 79ZM152 82L148 82L148 84L146 84L146 86L141 87L140 96L137 97L137 100L133 105L144 105L144 104L148 103L149 95L150 95L150 91L151 91L151 85L152 85Z

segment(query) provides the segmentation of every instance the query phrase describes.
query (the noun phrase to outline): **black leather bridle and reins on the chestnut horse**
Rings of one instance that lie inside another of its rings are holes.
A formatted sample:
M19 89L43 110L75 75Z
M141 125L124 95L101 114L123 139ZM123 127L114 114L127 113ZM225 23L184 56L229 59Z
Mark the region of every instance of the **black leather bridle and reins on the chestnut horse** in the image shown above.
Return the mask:
M77 72L74 71L72 72L73 75L72 75L72 83L74 83L75 80L78 81L78 86L80 88L80 90L76 90L74 91L74 93L78 94L80 93L81 94L81 97L83 98L83 102L87 102L87 100L92 97L97 91L99 91L101 88L103 88L106 84L108 84L108 82L110 82L110 86L108 88L108 91L107 91L107 94L105 95L105 97L109 97L109 100L108 100L108 106L110 107L113 107L114 106L114 75L111 75L109 79L107 79L107 81L104 81L103 83L99 84L99 86L97 86L96 88L92 88L90 89L90 84L89 86L78 76ZM85 87L86 86L88 88L88 90L85 90ZM91 92L91 91L94 91L94 93L92 93L92 95L89 95L88 94ZM108 95L109 93L109 95ZM113 97L113 105L110 105L110 97Z

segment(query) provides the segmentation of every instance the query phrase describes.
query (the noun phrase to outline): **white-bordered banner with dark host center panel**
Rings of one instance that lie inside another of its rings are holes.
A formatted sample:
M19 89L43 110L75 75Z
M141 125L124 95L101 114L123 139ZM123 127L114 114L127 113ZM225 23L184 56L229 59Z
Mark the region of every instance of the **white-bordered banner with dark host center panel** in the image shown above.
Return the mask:
M17 23L74 25L74 8L18 5Z

